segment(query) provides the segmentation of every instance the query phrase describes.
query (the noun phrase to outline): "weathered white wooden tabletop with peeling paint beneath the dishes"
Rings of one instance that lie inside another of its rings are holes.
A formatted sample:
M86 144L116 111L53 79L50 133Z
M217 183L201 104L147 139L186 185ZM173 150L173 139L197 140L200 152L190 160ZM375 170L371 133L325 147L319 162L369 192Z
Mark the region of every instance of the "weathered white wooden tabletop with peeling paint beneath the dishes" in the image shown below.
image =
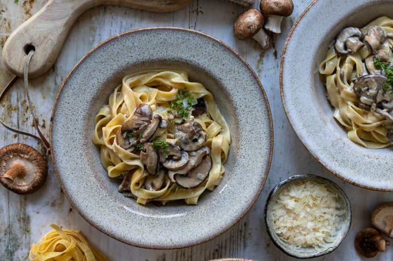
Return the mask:
M45 2L46 0L19 0L19 3L14 3L14 0L0 0L1 47L7 36L37 12ZM194 0L182 10L165 14L116 6L99 6L84 13L72 27L55 65L45 75L31 80L32 100L37 105L40 124L47 136L52 105L62 80L92 47L117 33L140 27L191 28L217 37L233 47L261 79L269 98L274 124L274 154L269 177L250 212L225 234L195 247L162 251L123 244L90 226L71 208L50 164L46 184L32 195L20 196L0 186L0 260L27 260L31 244L50 230L48 225L52 222L66 228L82 230L91 244L111 260L199 261L227 257L290 260L268 237L263 221L263 208L267 194L279 181L299 173L317 174L337 182L352 204L353 220L348 236L335 252L318 260L359 260L353 246L356 233L371 225L371 211L377 204L392 200L393 193L361 189L329 173L299 141L281 104L279 74L282 47L292 24L310 2L311 0L295 0L294 13L284 20L282 34L275 37L275 48L267 51L261 50L254 41L242 42L234 38L232 25L244 8L221 0ZM10 80L11 74L2 62L0 67L2 89ZM17 82L17 88L5 99L1 107L1 117L13 126L33 131L22 81ZM1 128L0 146L13 142L37 146L32 139L14 135ZM386 253L378 254L378 260L393 260L392 248L390 246Z

